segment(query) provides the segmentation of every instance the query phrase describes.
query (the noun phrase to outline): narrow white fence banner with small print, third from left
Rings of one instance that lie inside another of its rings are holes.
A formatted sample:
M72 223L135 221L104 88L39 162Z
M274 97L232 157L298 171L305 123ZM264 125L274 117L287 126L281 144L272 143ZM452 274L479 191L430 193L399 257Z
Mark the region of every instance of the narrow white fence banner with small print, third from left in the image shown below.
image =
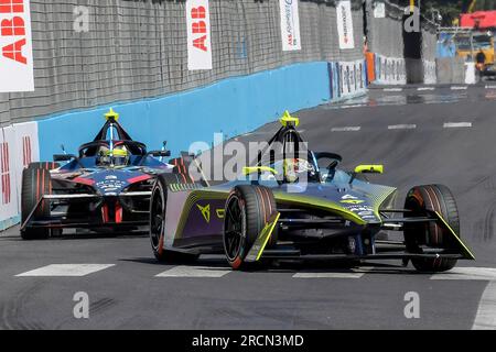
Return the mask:
M300 51L300 14L298 0L279 0L282 51Z

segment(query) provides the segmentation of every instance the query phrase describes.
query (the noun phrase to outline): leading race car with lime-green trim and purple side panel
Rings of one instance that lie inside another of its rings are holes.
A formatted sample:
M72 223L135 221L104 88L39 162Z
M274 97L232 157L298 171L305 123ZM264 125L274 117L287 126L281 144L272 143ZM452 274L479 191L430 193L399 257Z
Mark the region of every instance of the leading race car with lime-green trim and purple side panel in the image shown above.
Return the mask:
M339 169L339 155L305 148L298 118L285 113L280 122L239 179L208 187L172 174L157 178L150 240L158 260L225 254L234 270L278 260L411 260L418 271L442 272L474 258L445 186L413 187L395 209L397 189L366 178L382 165ZM388 231L403 235L384 240Z

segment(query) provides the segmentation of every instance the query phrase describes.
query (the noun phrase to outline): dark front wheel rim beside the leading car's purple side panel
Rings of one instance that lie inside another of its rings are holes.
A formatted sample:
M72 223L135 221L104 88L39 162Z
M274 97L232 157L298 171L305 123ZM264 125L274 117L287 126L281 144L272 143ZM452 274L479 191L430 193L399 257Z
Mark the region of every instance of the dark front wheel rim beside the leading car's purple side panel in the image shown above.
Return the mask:
M245 211L237 196L229 198L225 219L224 250L233 262L239 256L245 243Z

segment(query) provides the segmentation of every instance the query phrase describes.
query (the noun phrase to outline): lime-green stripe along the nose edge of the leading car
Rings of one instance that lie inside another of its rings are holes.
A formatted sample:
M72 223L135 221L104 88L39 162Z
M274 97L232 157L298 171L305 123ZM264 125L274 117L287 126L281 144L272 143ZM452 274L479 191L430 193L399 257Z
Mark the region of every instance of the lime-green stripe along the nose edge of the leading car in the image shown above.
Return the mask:
M356 213L343 208L338 204L331 200L324 200L321 198L302 196L296 194L288 194L283 191L274 191L273 196L276 198L276 201L295 206L305 206L314 209L327 210L337 213L338 216L342 216L344 219L353 221L357 224L366 224L366 221L360 217L358 217Z

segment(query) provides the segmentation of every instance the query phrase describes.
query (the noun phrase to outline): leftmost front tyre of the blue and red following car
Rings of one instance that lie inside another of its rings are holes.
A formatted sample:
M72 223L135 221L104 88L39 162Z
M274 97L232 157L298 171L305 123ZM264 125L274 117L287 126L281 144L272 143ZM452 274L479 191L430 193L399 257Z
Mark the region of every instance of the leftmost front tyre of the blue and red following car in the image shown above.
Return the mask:
M52 194L52 178L50 170L42 167L29 167L22 172L21 190L21 221L25 222L28 217L36 207L43 195ZM32 219L44 219L50 217L50 200L43 200ZM21 231L23 240L43 240L50 237L48 228L25 228Z

